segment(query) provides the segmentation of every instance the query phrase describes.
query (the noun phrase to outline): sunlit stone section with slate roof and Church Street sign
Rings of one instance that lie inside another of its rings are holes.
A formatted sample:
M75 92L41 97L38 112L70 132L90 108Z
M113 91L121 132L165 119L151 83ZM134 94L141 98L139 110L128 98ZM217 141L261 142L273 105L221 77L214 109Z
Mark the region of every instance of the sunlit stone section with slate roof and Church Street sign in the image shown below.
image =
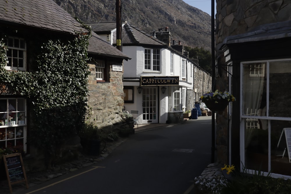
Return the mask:
M120 128L124 106L123 60L130 58L94 32L89 39L88 55L92 59L88 62L89 120L99 129Z

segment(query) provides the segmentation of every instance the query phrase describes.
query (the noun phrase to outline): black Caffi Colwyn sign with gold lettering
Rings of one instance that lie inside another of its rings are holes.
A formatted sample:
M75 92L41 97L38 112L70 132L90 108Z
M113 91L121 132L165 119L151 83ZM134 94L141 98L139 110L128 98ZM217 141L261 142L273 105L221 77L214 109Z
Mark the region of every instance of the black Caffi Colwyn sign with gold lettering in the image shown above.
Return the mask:
M179 76L141 76L141 86L179 86Z

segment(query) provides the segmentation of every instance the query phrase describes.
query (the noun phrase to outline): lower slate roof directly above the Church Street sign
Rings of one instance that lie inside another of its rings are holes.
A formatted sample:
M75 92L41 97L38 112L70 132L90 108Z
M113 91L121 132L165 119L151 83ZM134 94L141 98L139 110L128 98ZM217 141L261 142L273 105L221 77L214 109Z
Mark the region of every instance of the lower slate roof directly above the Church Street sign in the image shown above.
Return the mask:
M126 60L130 59L129 56L123 54L120 50L104 41L94 32L92 32L92 37L89 39L88 53L123 58Z

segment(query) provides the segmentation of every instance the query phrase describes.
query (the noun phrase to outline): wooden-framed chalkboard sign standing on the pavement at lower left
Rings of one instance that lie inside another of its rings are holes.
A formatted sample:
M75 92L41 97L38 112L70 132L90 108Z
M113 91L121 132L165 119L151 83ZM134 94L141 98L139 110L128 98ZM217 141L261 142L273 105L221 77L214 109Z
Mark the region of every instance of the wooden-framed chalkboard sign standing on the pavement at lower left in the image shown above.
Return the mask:
M10 193L12 193L11 187L12 184L17 184L25 181L26 188L28 188L27 178L21 154L15 153L3 155L3 161L6 169Z

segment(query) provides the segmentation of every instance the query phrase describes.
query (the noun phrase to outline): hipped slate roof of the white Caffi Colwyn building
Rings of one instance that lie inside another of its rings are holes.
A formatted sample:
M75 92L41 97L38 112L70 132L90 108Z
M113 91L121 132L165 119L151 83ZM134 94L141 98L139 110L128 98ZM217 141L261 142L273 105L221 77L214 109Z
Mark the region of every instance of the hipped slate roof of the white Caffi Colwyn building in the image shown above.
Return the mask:
M136 26L128 23L123 26L121 35L123 45L155 45L162 47L168 46L166 43L158 40L149 33L146 33Z

